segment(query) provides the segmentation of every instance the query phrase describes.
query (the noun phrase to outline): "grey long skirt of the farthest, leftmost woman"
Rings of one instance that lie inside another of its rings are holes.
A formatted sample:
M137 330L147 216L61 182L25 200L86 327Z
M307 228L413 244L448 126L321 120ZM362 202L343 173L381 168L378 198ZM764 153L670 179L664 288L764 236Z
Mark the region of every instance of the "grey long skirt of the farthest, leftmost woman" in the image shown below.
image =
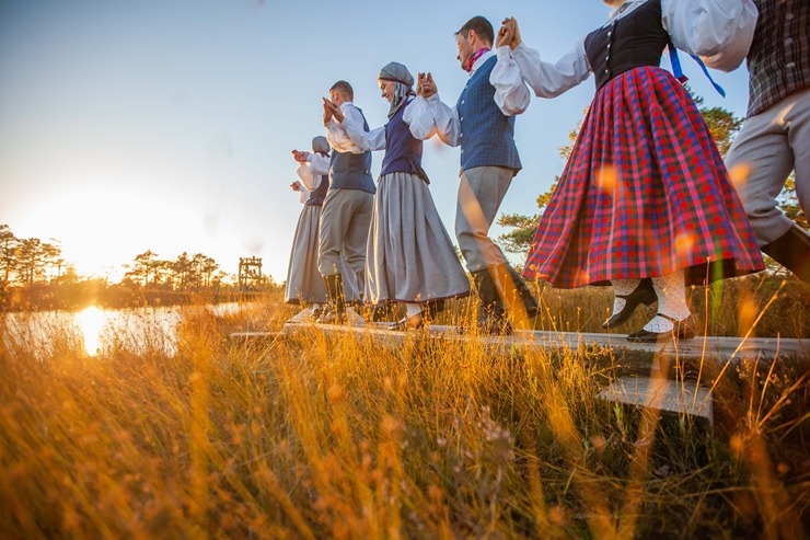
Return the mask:
M321 207L304 206L298 218L296 235L292 240L290 264L287 268L287 303L325 303L326 285L317 271L317 225L321 220ZM344 282L344 296L348 302L358 302L357 279L342 258L340 274Z

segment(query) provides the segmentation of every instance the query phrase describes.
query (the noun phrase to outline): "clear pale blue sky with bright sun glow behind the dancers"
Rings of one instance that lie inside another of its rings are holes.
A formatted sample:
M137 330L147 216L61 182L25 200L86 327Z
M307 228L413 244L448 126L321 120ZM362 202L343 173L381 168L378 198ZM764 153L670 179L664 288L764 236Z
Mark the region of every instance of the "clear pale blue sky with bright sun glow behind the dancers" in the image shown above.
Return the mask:
M455 103L467 76L453 33L471 16L496 30L516 16L526 45L556 60L608 13L600 0L0 0L0 223L58 241L84 275L117 279L146 250L186 251L232 274L259 256L282 282L301 211L290 150L323 134L321 97L336 80L378 127L389 105L377 74L391 60L432 72ZM744 115L744 67L713 72L722 99L681 59L705 105ZM533 97L502 212L536 212L592 95L591 78ZM459 149L428 141L424 168L453 237Z

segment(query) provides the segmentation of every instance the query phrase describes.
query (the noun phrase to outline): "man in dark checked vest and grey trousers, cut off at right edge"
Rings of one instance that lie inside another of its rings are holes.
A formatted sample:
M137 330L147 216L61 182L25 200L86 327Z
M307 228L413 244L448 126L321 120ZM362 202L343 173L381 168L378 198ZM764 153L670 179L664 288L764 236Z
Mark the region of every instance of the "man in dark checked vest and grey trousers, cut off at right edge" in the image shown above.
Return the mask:
M736 69L748 56L745 122L726 158L763 252L810 283L810 237L778 207L790 172L807 216L810 202L810 2L754 0L760 15L753 37L707 65ZM749 47L750 44L750 47Z

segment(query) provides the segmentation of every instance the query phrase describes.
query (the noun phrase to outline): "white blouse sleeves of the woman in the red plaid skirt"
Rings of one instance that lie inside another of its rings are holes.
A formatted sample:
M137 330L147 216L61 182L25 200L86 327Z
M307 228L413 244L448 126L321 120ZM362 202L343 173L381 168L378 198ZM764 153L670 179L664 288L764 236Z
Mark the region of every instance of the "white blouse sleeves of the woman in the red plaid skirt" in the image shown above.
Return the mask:
M624 11L614 9L605 25L627 16L645 1L625 2L628 7ZM753 37L756 7L752 0L661 0L661 24L679 49L715 58L713 67L733 62L739 66ZM585 37L554 64L544 61L537 50L524 44L512 50L512 58L540 97L559 95L586 80L591 72Z

